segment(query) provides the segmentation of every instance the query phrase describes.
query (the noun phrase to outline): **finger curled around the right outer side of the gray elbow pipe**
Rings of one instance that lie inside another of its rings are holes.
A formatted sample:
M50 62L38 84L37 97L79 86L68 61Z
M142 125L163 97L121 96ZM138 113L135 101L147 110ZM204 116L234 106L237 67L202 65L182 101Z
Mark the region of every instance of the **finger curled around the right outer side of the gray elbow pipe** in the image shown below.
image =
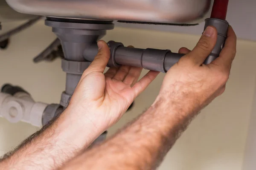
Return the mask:
M215 59L212 64L224 66L231 69L232 62L236 56L236 33L230 26L227 31L227 40L225 42L224 48L222 49L220 56Z

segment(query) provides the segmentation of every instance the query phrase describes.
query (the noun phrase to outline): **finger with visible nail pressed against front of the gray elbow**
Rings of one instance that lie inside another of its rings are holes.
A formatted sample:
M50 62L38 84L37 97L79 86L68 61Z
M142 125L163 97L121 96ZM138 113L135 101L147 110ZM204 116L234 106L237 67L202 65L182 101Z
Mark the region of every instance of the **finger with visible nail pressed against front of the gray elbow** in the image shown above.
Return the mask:
M194 65L202 65L209 56L217 41L217 30L213 26L208 26L195 48L183 57Z

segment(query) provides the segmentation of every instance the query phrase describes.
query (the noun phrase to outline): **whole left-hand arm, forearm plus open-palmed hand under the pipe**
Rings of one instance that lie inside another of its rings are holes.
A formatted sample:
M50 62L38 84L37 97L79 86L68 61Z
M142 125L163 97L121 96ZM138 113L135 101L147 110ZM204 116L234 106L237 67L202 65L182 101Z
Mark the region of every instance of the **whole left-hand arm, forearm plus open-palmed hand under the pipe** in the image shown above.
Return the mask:
M118 121L134 99L157 77L142 68L110 68L108 45L98 42L99 53L76 87L68 107L0 160L0 169L49 170L74 158Z

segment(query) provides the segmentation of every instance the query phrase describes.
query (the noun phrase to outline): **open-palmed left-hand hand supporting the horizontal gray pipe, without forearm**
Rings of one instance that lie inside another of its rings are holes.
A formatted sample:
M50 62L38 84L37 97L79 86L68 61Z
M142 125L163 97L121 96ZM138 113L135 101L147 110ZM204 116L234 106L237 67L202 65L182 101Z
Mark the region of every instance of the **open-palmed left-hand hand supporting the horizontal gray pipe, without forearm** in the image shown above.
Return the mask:
M149 71L138 82L142 68L121 66L110 68L103 74L110 51L104 41L99 41L98 47L99 53L84 71L68 108L74 108L76 111L79 108L78 112L81 114L94 114L97 121L100 121L97 123L108 128L121 118L134 99L148 87L159 72Z

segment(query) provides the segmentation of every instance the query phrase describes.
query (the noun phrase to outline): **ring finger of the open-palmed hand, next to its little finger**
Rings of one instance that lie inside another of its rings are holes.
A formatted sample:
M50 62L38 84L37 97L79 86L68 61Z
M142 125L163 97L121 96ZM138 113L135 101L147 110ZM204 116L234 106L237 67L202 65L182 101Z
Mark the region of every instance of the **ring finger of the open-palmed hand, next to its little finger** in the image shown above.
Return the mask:
M138 81L142 69L143 68L132 67L123 82L127 85L134 85L135 82Z

